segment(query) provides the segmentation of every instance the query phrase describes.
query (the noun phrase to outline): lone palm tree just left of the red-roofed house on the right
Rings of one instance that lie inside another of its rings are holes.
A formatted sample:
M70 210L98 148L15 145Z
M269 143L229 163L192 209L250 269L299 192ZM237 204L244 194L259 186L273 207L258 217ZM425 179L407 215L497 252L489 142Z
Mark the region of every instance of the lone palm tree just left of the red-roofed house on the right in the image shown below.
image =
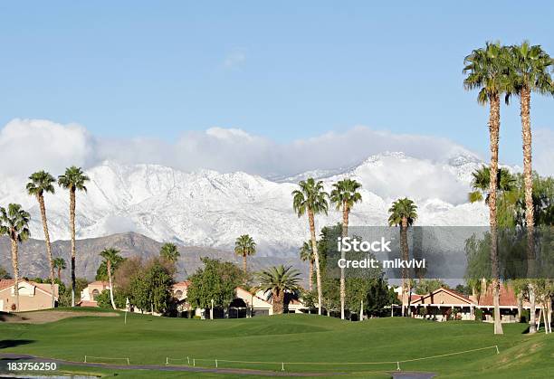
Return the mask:
M416 204L405 197L404 199L398 199L392 204L388 210L390 215L388 216L388 224L390 226L400 226L400 248L402 250L402 259L404 261L409 260L408 242L407 242L407 229L411 226L417 218L417 206ZM407 313L410 312L410 280L407 278L407 272L402 270L402 316L404 316L404 304L406 299L406 285L407 285Z

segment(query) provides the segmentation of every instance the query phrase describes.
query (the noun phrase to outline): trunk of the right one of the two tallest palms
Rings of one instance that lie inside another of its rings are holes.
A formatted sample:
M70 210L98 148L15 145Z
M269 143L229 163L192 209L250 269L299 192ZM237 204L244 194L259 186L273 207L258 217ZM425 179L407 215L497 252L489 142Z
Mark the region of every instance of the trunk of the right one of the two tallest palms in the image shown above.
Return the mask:
M525 185L525 224L527 227L527 277L532 279L535 277L535 219L533 207L533 169L531 161L532 136L530 128L530 89L523 87L520 96L521 110L521 139L523 142L523 184ZM529 292L534 293L532 283L529 284ZM535 333L535 296L530 296L530 333Z

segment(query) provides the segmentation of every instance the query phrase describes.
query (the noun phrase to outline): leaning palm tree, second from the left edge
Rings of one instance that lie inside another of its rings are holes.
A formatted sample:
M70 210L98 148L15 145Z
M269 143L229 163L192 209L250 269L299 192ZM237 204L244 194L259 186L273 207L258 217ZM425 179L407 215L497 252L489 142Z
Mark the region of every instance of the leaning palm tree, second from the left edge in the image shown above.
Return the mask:
M36 197L36 200L41 209L41 217L43 218L43 231L44 242L46 243L46 256L48 263L50 264L50 282L52 285L52 308L56 305L56 299L54 297L54 273L53 273L53 257L52 257L52 244L50 243L50 233L48 232L48 222L46 219L46 206L44 205L44 193L54 193L53 184L56 183L53 175L45 171L37 171L29 176L29 183L27 183L27 193Z

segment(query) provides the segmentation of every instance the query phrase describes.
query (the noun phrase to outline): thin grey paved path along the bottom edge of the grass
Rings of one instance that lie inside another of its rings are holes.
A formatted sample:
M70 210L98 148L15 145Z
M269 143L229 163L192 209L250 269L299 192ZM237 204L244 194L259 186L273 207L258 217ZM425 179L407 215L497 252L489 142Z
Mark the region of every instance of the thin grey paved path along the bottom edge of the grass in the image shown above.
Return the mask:
M34 355L0 353L0 362L25 361L25 362L55 362L58 365L75 365L81 367L102 367L114 370L157 370L157 371L186 371L192 373L212 373L212 374L242 374L258 376L335 376L348 375L349 373L289 373L279 371L249 370L244 368L202 368L186 365L112 365L112 364L94 364L84 362L72 362L62 359L43 358ZM4 367L5 365L2 365ZM394 379L431 379L435 377L433 373L411 373L411 372L391 372Z

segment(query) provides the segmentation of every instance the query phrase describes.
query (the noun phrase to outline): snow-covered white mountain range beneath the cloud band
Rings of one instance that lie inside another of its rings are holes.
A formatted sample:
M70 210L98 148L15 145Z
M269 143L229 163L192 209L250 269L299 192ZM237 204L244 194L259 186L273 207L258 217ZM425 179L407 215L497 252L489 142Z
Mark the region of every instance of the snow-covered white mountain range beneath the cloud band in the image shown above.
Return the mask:
M350 216L351 225L384 225L387 209L398 197L418 204L420 225L484 225L483 204L467 204L473 170L482 165L474 156L454 156L432 162L384 153L338 172L319 170L328 191L332 183L352 177L362 185L363 203ZM77 237L91 238L114 232L139 232L159 242L229 248L240 234L249 233L260 253L296 251L309 236L307 220L292 211L293 179L269 180L244 172L192 173L167 166L104 162L86 171L87 193L77 194ZM20 203L32 214L32 235L43 238L35 199L24 183L0 186L0 204ZM53 239L68 239L69 195L57 188L45 195ZM318 227L337 223L339 213L317 218Z

